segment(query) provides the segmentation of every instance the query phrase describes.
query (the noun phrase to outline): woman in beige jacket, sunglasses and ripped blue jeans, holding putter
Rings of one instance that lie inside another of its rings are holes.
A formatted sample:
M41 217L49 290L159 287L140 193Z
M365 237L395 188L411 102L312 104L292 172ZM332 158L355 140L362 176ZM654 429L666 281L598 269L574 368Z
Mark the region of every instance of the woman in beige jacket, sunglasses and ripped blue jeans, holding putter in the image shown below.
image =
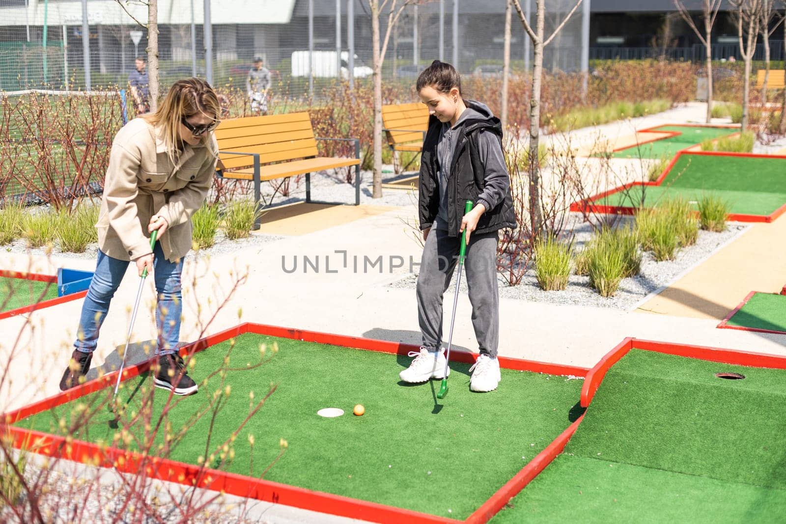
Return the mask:
M152 269L158 305L156 387L193 394L196 383L177 353L183 257L191 248L191 217L208 194L218 146L219 101L208 82L178 80L158 111L131 120L112 142L101 213L98 262L82 306L78 338L61 390L84 382L109 302L129 262ZM151 251L149 234L158 231Z

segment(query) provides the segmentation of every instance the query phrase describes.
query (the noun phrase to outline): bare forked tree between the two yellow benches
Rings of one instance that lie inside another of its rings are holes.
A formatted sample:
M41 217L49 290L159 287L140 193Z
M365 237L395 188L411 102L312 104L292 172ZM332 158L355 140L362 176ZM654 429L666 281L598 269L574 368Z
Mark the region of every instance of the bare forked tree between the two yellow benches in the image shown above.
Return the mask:
M426 0L403 0L401 5L397 5L399 0L369 0L371 8L371 42L373 47L372 68L374 85L374 174L373 174L373 197L382 196L382 64L387 52L387 43L390 42L391 32L396 24L399 23L404 8L412 4L424 4ZM386 11L387 9L387 11ZM385 36L381 38L380 46L380 16L387 13L387 27Z

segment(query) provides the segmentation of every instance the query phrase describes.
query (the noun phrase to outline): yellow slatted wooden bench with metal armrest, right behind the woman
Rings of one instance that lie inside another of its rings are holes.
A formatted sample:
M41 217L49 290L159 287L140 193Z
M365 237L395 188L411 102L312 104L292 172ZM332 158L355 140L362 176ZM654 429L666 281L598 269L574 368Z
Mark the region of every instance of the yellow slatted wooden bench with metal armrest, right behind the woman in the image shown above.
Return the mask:
M261 208L263 180L305 174L306 202L310 203L311 173L350 166L355 167L354 205L360 204L360 141L357 138L314 137L307 112L224 120L216 128L215 138L219 142L220 160L217 176L254 181L258 209ZM352 141L354 158L319 156L318 140ZM259 218L254 229L259 229Z

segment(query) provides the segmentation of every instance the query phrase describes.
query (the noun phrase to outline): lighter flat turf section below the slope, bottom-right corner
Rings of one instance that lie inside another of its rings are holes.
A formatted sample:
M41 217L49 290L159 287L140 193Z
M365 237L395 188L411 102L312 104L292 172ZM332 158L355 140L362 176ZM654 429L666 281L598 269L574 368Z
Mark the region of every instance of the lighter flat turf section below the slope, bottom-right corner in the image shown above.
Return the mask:
M560 455L491 522L776 522L777 515L786 515L780 489Z

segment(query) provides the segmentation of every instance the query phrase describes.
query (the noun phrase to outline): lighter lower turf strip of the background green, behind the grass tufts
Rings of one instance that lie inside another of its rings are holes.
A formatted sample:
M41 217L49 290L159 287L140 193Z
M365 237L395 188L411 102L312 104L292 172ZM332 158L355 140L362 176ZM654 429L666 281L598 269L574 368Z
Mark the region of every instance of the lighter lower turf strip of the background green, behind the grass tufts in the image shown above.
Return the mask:
M594 203L617 207L656 207L664 200L682 197L698 211L697 203L707 195L722 198L729 203L729 212L737 214L766 216L786 203L786 193L705 190L676 185L634 185L597 199Z

